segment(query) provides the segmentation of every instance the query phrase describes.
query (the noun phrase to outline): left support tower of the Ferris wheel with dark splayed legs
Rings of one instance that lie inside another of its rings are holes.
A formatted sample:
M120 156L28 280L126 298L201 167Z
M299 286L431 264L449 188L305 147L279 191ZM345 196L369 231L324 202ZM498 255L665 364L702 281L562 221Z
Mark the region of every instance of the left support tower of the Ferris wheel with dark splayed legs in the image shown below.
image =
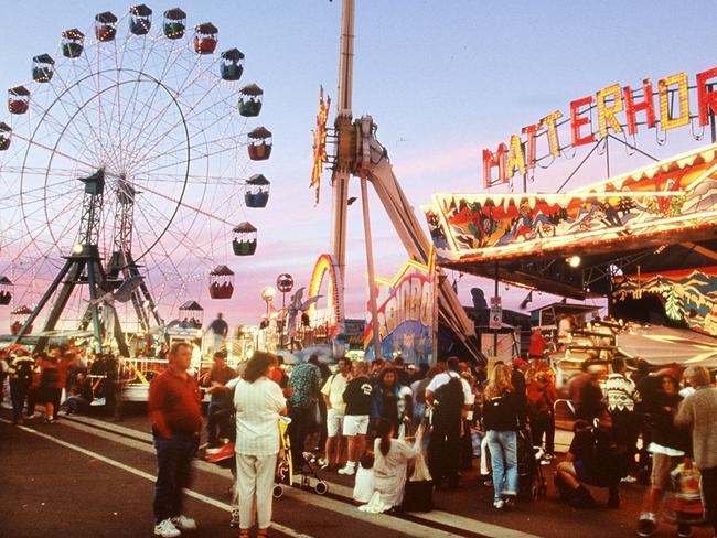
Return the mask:
M101 352L103 327L99 322L97 303L98 299L106 293L106 290L109 290L107 276L103 268L99 248L97 246L101 224L100 217L105 190L105 171L100 169L92 176L81 179L79 181L85 183L85 195L83 198L83 212L78 234L79 240L73 247L72 255L65 257L66 261L64 266L42 295L32 313L28 316L22 327L20 327L20 331L18 331L18 334L13 338L13 344L22 343L29 327L50 302L52 295L57 291L57 289L60 289L57 298L52 305L52 310L47 315L42 333L35 344L34 349L42 352L47 346L50 340L49 336L43 336L43 334L54 331L75 286L87 283L89 287L90 299L88 312L93 323L95 351ZM85 273L85 279L83 279L83 272ZM62 288L60 288L61 284ZM114 318L114 334L119 353L122 356L128 356L125 334L122 333L121 324L117 316Z

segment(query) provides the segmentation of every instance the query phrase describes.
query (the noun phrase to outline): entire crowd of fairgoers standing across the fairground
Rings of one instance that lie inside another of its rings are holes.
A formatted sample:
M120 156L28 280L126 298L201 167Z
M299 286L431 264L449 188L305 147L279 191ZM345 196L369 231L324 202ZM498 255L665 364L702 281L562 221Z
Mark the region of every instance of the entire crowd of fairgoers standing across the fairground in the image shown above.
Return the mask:
M311 356L287 369L280 357L257 352L239 375L216 352L201 377L211 395L204 422L201 387L188 372L191 346L176 344L162 354L169 368L152 380L149 396L159 470L158 536L176 537L196 526L183 515L182 489L191 481L204 423L208 448L234 442L237 506L232 523L240 536L248 536L255 524L265 536L270 526L283 415L290 419L295 473L312 472L309 467L318 462L324 472L355 476L354 498L367 512L402 508L416 459L426 460L437 489L460 487L469 476L464 472L480 459L494 508L511 509L524 493L521 440L539 448L538 464L549 465L555 458L558 391L555 373L539 357L497 362L490 373L457 357L429 367L406 365L400 356L371 363L340 358L333 368ZM22 348L0 351L0 359L8 365L17 422L23 420L23 408L32 416L40 402L45 404L45 420L55 420L63 389L67 411L82 412L93 398L93 373L104 368L106 378L118 377L109 374L116 370L111 357L81 361L71 348L34 356ZM643 364L630 372L619 358L609 366L606 376L604 362L586 363L566 387L576 420L568 452L555 465L560 497L577 508L595 507L596 488L602 488L604 505L619 508L621 483L649 483L636 517L638 535L649 537L675 481L698 472L714 526L717 389L709 372L677 365L650 372ZM691 536L688 517L671 517L677 536Z

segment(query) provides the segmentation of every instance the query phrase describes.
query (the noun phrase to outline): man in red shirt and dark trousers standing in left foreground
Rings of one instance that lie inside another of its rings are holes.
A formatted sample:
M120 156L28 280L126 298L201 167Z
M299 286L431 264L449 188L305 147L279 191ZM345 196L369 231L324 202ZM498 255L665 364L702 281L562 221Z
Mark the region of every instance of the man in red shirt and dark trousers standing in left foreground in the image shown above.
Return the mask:
M186 370L192 347L178 343L169 352L169 368L149 386L149 418L157 449L154 485L154 535L175 538L181 530L196 529L182 515L182 489L192 480L192 460L202 429L200 388Z

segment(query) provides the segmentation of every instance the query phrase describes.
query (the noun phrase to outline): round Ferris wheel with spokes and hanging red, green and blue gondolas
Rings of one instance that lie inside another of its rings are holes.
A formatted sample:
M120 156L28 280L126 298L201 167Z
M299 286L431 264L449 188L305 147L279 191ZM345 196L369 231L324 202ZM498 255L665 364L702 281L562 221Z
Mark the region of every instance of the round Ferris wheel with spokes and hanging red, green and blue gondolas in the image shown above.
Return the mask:
M227 266L256 250L247 207L269 194L250 161L268 159L272 141L249 125L264 92L242 80L244 54L218 42L211 22L141 4L98 13L28 58L32 78L8 90L0 121L0 272L12 275L13 306L52 286L88 237L110 284L141 275L135 312L119 315L143 329L188 300L232 295ZM87 300L78 287L63 322L86 320Z

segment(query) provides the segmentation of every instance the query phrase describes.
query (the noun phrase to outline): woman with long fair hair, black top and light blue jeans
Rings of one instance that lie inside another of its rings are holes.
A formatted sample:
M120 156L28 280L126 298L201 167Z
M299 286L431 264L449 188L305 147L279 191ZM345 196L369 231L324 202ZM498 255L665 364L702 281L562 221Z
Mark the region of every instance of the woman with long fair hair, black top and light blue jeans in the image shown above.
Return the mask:
M512 508L517 495L517 435L522 404L511 384L511 370L496 364L485 388L483 427L493 467L493 506Z

